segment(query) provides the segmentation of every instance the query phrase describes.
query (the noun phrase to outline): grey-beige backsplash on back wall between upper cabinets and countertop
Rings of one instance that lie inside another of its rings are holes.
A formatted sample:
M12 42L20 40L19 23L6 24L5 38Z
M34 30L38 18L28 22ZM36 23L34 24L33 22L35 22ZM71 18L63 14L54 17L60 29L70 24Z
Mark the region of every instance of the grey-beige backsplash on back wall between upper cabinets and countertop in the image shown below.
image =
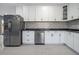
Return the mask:
M68 28L68 27L66 22L26 21L25 29L26 28Z

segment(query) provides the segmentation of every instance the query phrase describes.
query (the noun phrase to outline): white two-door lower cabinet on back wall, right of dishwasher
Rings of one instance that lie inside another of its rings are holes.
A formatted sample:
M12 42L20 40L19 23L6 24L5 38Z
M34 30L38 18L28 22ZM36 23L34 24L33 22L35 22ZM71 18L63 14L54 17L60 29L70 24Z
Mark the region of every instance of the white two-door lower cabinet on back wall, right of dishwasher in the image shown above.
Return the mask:
M64 43L64 31L45 31L45 44Z

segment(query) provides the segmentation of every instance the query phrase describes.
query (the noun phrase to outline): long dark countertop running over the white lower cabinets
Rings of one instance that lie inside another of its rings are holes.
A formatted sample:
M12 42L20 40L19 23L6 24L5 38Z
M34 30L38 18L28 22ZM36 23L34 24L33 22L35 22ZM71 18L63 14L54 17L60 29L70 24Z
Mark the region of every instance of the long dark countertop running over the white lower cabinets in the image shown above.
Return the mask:
M66 28L27 28L23 29L22 31L30 30L30 31L47 31L47 30L54 30L54 31L73 31L73 32L79 32L79 29L66 29Z

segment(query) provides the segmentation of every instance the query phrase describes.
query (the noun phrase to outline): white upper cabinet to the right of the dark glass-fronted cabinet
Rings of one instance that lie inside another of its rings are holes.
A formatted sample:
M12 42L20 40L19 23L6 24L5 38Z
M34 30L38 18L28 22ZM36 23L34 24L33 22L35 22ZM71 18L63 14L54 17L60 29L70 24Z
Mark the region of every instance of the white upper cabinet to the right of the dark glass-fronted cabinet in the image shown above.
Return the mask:
M79 4L68 4L68 20L79 19Z

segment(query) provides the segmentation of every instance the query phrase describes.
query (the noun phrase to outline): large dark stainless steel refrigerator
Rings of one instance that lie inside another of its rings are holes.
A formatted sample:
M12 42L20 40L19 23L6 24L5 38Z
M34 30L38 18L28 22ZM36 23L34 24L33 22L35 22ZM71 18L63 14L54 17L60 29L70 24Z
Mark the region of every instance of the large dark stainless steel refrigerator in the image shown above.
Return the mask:
M4 45L20 46L23 18L19 15L4 15Z

